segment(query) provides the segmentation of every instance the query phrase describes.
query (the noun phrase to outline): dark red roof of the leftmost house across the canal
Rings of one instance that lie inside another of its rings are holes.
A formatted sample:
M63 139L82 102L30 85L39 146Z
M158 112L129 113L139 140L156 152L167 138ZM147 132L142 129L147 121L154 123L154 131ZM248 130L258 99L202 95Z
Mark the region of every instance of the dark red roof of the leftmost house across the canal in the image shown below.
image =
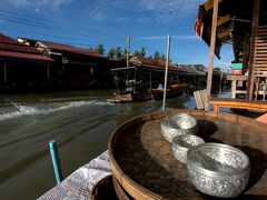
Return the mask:
M43 56L34 48L20 43L2 33L0 33L0 57L52 61L51 58Z

